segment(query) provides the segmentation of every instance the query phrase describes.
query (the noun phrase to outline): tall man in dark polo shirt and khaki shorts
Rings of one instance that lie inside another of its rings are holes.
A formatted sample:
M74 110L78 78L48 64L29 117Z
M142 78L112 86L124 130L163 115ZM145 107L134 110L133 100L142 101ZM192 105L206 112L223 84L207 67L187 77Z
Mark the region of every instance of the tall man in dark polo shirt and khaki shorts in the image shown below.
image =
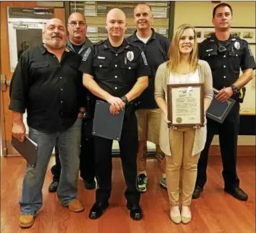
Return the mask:
M148 79L148 88L138 98L138 110L136 116L138 119L138 177L137 185L140 192L146 192L148 176L146 174L146 155L147 140L156 144L156 155L160 162L162 179L160 186L166 189L166 160L165 154L160 150L160 115L161 111L154 101L154 78L158 66L167 61L168 48L170 41L156 33L152 29L152 10L146 3L138 3L134 8L134 23L137 30L128 37L128 41L142 49L146 55L150 67L150 76Z

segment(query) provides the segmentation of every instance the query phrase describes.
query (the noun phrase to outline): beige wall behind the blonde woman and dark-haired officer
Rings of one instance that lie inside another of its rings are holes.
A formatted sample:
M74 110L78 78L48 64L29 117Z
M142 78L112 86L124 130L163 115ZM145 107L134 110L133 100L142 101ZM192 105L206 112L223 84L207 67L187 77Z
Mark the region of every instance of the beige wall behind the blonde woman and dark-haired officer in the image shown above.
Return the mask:
M233 27L255 27L255 1L228 1L227 3L233 8ZM217 4L211 1L176 1L174 29L183 23L190 23L197 27L213 27L211 19L215 5ZM250 46L255 57L255 45ZM249 82L246 87L247 93L241 107L255 108L255 87L252 87L252 82ZM219 144L218 136L215 136L212 144ZM239 136L238 144L255 145L255 136Z

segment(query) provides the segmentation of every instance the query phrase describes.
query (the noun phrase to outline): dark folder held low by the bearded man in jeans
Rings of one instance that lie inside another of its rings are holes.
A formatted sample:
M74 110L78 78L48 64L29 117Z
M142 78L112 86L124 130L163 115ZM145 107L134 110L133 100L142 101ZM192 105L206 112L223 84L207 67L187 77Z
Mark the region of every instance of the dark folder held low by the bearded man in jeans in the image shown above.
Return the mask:
M17 138L12 136L11 145L31 166L35 167L37 163L37 144L33 142L33 140L25 136L25 140L20 142Z

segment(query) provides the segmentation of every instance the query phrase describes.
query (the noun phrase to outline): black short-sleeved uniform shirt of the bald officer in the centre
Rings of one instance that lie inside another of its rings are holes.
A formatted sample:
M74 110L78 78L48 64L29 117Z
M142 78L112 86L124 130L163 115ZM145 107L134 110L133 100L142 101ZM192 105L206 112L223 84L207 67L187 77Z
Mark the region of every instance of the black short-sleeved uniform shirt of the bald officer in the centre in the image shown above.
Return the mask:
M117 52L108 39L93 45L84 54L79 69L92 75L114 97L126 95L139 77L150 75L144 53L125 39Z

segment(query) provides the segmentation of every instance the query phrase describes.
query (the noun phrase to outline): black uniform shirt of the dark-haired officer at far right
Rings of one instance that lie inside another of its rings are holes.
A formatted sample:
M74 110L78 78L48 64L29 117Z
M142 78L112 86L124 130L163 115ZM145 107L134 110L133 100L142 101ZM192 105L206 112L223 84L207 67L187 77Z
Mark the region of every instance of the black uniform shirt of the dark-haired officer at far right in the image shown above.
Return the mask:
M256 67L247 41L231 35L223 53L219 51L220 44L215 34L199 44L199 57L209 63L213 87L218 90L233 85L239 78L240 68L244 71Z

